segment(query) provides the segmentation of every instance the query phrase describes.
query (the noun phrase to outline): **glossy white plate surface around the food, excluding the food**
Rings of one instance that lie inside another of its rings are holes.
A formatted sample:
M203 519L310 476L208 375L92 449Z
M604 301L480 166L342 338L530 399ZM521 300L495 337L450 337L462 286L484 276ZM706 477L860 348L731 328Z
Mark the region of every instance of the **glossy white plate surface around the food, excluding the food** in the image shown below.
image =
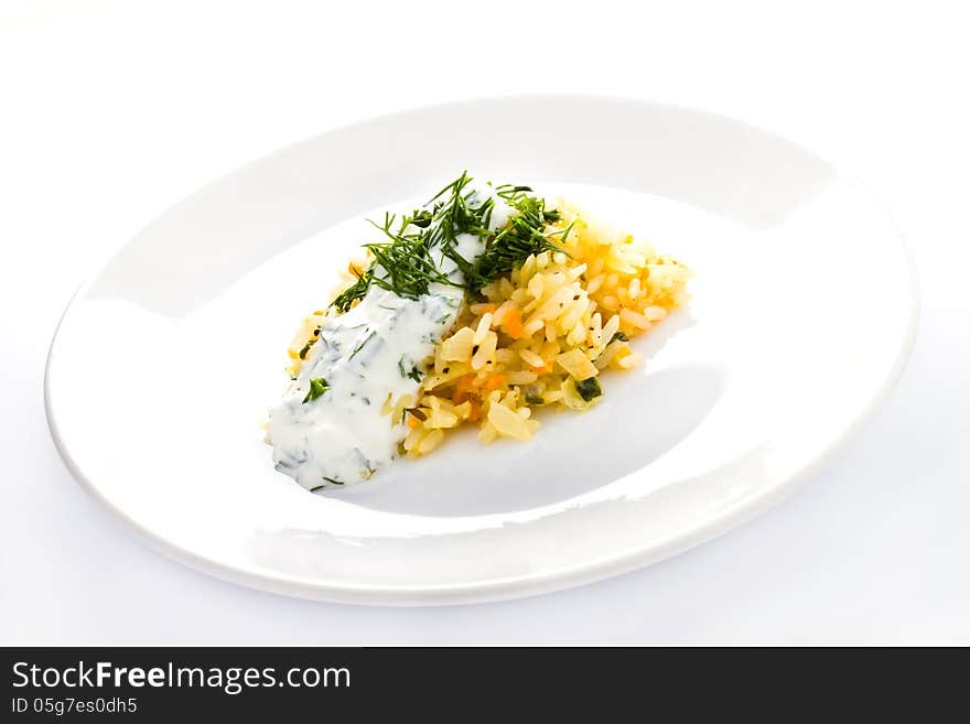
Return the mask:
M362 215L463 169L647 235L693 268L694 300L635 343L642 369L530 443L456 435L309 495L262 443L285 346L367 240ZM651 563L779 500L887 395L915 312L877 204L783 139L618 99L471 101L324 133L169 210L65 312L47 415L85 487L214 575L338 602L506 598Z

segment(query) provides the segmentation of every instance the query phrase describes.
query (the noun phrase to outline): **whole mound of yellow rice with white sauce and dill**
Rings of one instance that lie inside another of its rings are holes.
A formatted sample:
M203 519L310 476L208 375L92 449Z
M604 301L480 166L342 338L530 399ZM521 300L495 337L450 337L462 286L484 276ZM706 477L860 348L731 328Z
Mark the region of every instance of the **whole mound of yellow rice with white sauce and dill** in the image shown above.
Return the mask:
M463 173L374 224L330 303L304 320L270 412L277 469L311 491L367 480L448 431L527 441L545 408L584 411L630 341L687 299L690 271L565 202Z

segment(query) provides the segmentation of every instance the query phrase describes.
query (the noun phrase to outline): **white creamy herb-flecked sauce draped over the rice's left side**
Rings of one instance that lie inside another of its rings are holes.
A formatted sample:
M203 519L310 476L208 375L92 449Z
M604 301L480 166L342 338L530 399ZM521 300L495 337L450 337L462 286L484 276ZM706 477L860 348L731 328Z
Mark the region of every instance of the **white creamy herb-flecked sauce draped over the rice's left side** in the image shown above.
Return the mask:
M514 209L491 187L476 196L475 204L488 196L495 199L489 228L505 226ZM468 261L484 251L477 236L462 234L456 241L459 255ZM463 283L453 260L440 250L432 252L432 260L442 273ZM463 303L461 287L434 283L428 294L411 300L371 285L354 309L326 318L300 375L270 411L267 433L277 469L319 490L360 483L394 461L408 426L381 408L405 395L417 400L420 382L414 378L423 376ZM316 378L325 379L328 388L304 402L310 380Z

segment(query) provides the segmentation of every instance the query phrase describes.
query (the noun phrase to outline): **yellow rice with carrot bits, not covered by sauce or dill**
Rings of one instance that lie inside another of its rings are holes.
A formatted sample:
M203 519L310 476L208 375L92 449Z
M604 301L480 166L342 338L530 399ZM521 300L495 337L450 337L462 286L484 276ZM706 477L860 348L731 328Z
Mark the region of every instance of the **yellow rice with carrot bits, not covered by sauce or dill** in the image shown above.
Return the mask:
M553 229L573 224L568 237L556 237L565 253L531 256L484 287L427 360L417 398L385 403L388 424L403 419L409 426L408 456L430 453L464 423L477 425L484 443L525 441L539 428L538 408L590 409L601 398L584 400L576 382L636 367L643 355L622 337L648 332L687 301L691 274L683 264L569 206L551 206L562 214ZM336 293L368 263L352 262ZM325 314L309 315L297 333L291 375Z

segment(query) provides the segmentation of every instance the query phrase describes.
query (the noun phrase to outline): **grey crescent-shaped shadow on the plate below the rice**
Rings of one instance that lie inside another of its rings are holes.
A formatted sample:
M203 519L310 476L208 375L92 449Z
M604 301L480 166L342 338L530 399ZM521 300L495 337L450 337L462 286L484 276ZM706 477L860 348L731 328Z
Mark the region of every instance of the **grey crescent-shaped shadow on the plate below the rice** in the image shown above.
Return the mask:
M484 446L462 431L434 455L401 461L342 500L385 512L476 516L568 500L638 471L686 439L724 389L715 366L683 365L610 381L582 414L550 412L527 444Z

